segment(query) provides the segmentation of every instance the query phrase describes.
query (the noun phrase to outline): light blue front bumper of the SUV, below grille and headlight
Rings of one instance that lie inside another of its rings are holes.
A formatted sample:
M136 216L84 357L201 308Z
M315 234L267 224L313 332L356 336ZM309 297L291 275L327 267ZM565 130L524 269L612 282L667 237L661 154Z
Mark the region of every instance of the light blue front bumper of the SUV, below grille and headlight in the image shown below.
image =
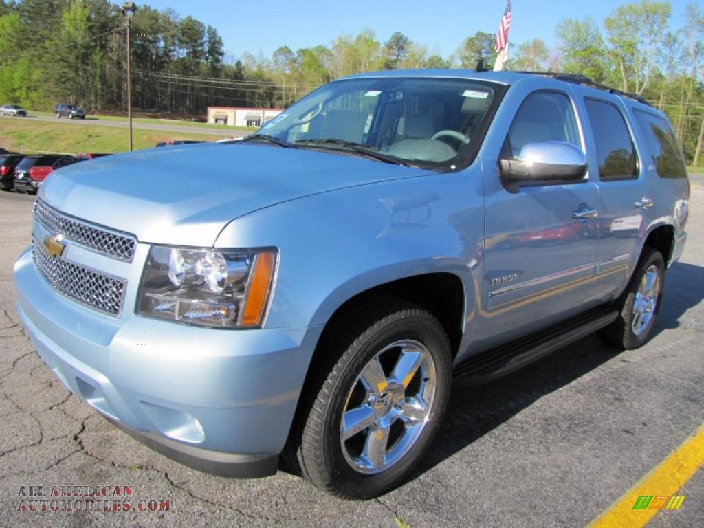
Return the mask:
M139 317L127 304L113 318L56 293L29 249L15 284L39 356L115 425L201 471L276 472L320 327L191 327Z

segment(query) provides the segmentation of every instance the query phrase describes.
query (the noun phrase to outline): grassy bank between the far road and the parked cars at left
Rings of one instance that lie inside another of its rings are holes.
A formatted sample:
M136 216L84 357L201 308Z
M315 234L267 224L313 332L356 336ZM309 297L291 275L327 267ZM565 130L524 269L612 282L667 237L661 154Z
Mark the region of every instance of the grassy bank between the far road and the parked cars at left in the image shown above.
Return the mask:
M129 149L127 129L91 126L68 127L61 123L0 119L0 146L18 152L123 152ZM222 135L187 134L161 130L133 130L134 150L151 149L158 142L169 139L200 139L215 141Z

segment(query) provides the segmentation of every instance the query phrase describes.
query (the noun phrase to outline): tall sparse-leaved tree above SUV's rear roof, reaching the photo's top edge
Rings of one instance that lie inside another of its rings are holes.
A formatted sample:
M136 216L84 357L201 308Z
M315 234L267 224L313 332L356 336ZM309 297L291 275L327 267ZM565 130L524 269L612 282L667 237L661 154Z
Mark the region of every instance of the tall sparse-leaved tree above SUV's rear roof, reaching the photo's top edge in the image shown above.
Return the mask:
M604 20L610 53L615 57L622 78L622 89L634 87L642 94L655 67L655 57L670 19L667 2L641 0L616 8Z

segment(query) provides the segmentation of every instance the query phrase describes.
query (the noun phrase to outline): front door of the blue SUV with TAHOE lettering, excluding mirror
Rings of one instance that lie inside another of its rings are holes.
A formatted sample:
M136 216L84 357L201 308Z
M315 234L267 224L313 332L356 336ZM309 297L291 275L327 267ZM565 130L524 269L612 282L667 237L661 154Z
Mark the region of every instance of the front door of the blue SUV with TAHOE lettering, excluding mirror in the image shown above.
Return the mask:
M554 84L553 84L554 86ZM518 158L525 144L568 142L584 149L572 92L525 96L498 158ZM484 168L486 239L482 337L524 334L580 310L593 277L598 194L588 174L570 184L509 191L492 160ZM591 210L592 218L574 218Z

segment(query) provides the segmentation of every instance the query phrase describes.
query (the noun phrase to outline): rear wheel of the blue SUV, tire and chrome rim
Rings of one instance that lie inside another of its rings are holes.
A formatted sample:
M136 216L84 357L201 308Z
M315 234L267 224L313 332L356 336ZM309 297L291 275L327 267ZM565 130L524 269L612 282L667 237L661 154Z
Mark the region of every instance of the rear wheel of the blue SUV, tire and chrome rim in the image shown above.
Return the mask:
M660 251L646 246L631 281L616 301L618 318L598 332L602 341L622 350L646 344L655 326L664 288L665 259Z

